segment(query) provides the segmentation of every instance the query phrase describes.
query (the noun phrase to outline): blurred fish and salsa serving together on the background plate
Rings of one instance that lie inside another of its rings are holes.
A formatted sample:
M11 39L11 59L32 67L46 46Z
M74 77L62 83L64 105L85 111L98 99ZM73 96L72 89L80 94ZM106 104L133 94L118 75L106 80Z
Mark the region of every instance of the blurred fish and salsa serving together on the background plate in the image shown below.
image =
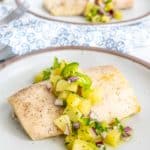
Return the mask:
M80 16L87 21L107 23L121 20L120 9L133 6L133 0L44 0L44 8L55 16Z

